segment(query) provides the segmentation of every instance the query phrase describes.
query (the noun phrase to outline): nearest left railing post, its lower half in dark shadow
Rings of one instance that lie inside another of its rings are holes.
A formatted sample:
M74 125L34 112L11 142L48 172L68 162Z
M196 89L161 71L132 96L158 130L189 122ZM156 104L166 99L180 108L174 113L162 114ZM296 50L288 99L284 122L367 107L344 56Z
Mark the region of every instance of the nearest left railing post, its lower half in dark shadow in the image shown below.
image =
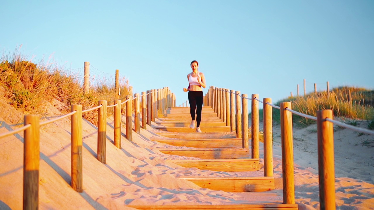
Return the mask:
M24 130L23 209L34 210L39 207L39 116L25 115L24 125L28 124L31 124L31 127Z

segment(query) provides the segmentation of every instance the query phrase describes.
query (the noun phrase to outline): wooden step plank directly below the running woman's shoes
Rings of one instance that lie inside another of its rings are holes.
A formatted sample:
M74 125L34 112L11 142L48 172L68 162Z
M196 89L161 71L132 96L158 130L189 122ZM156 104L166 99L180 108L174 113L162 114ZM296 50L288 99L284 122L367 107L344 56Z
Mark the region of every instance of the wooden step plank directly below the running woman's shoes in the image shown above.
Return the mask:
M235 132L214 132L204 133L204 128L201 128L203 133L157 133L160 136L176 139L228 139L236 138ZM152 138L151 138L152 139Z

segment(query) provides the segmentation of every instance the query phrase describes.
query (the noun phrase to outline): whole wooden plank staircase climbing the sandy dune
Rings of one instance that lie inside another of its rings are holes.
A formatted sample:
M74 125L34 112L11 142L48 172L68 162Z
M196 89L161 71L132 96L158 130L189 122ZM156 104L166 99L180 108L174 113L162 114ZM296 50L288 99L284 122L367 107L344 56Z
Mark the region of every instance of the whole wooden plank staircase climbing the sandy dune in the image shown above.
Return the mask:
M251 158L251 148L243 148L242 139L210 107L202 109L200 129L196 133L191 129L189 107L173 107L166 109L166 114L158 118L156 125L159 137L151 140L174 146L189 148L159 149L170 155L197 157L199 160L168 160L182 167L195 167L202 170L223 172L258 171L261 169L260 159ZM195 183L202 188L227 192L264 192L275 189L274 177L186 177L181 178ZM287 209L297 210L297 204L263 203L235 205L187 205L187 206L130 206L137 209Z

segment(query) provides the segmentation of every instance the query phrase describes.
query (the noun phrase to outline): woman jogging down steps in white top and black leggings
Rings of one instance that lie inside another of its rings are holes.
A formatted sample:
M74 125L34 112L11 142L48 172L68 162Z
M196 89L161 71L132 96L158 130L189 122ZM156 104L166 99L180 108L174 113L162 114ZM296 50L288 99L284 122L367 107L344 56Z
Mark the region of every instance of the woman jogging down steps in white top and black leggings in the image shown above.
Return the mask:
M197 61L192 61L191 64L192 72L187 75L188 83L190 84L188 88L183 88L184 92L188 91L188 102L190 103L190 113L191 113L191 125L190 128L193 129L196 123L196 132L201 132L200 122L201 122L201 110L203 108L203 88L206 87L205 76L202 72L199 72L199 63ZM195 121L195 109L196 109L196 121Z

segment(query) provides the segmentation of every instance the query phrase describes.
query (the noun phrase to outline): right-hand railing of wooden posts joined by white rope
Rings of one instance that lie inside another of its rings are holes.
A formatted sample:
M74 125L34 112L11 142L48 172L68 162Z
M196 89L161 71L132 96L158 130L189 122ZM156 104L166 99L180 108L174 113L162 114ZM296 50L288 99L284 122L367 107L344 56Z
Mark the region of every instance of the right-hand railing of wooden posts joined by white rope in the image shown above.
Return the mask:
M241 104L240 106L240 99ZM258 99L257 94L252 94L252 98L246 97L240 91L209 87L208 93L204 98L205 106L210 106L217 117L226 121L226 125L231 127L232 132L236 132L237 138L242 138L243 148L248 148L248 120L247 100L251 100L251 148L252 158L258 154L258 102L263 104L264 114L264 176L273 176L273 154L272 154L272 108L281 111L281 138L282 138L282 179L283 179L283 203L295 203L294 192L294 163L293 163L293 132L292 132L292 114L315 120L317 122L318 132L318 162L319 162L319 179L320 179L320 202L321 206L326 209L335 209L335 188L334 188L334 148L333 145L333 125L346 127L356 132L374 135L374 132L351 125L332 120L331 110L317 111L317 117L303 114L292 110L291 102L282 102L280 106L272 104L270 98L264 98L263 101ZM253 100L254 99L254 100ZM226 110L226 115L222 110ZM226 119L225 119L226 116ZM229 117L227 117L229 116ZM236 122L236 125L234 124Z

